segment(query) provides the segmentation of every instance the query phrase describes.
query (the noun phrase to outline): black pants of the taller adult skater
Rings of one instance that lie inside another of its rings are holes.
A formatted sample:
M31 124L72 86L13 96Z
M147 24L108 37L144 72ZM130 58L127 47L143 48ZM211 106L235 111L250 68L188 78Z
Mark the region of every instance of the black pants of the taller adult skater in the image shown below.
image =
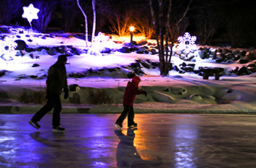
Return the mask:
M60 126L61 125L61 98L59 94L52 93L48 96L48 101L44 107L42 107L37 113L34 114L31 121L40 121L43 116L45 116L50 110L53 109L53 126Z

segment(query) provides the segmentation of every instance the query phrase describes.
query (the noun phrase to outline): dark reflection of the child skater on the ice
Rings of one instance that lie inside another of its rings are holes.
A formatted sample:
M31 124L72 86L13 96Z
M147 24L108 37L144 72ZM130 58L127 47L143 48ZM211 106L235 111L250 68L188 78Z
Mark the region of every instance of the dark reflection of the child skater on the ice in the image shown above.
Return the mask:
M115 134L120 139L116 151L117 167L159 167L162 164L162 159L157 156L157 161L143 160L135 146L135 129L127 129L127 135L124 135L121 130L115 130Z

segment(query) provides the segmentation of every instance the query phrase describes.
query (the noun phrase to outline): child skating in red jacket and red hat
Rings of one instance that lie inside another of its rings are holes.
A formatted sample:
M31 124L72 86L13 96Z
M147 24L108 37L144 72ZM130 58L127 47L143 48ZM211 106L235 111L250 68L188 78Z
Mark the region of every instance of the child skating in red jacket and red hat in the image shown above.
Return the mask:
M147 96L146 91L138 90L139 83L140 83L140 77L137 77L137 76L132 77L132 82L129 81L127 83L127 87L125 88L124 99L123 99L124 110L123 112L121 112L121 115L118 117L115 123L115 126L118 129L121 129L123 127L122 123L124 119L127 117L127 115L128 115L128 127L132 128L132 127L138 126L138 124L133 121L133 119L135 118L135 112L133 110L133 102L135 101L136 94L144 94L145 96Z

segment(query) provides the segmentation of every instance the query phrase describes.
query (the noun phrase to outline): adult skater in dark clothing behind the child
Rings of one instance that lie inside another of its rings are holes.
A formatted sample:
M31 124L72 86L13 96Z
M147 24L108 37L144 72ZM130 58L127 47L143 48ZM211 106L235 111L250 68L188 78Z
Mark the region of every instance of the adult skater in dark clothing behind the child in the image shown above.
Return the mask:
M67 64L67 56L61 55L55 64L50 66L48 70L48 77L46 80L46 96L48 99L44 107L42 107L38 112L34 114L29 123L34 128L39 129L41 126L38 121L40 121L50 110L53 109L53 132L64 132L65 129L61 127L61 99L60 95L62 89L64 89L64 99L69 96L67 88L67 71L65 64Z

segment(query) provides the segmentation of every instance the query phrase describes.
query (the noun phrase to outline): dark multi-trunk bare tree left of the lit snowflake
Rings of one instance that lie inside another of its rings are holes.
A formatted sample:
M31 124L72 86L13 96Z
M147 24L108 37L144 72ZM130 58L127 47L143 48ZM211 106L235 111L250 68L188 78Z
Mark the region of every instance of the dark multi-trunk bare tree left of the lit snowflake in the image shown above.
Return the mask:
M158 8L154 8L154 1L149 0L151 16L157 38L157 46L159 49L159 69L161 75L168 75L170 70L170 61L172 56L172 48L174 42L176 42L178 34L180 34L180 28L184 29L187 24L184 21L185 15L189 10L189 6L192 0L189 0L187 7L183 7L179 10L180 15L171 15L173 9L172 0L158 0ZM180 3L181 1L179 1ZM165 4L164 4L165 3ZM167 5L166 5L167 4ZM165 7L167 9L164 9ZM186 6L186 5L185 5ZM172 18L172 22L170 19ZM165 38L164 38L165 37ZM170 38L170 39L169 39ZM164 42L165 41L165 42ZM170 51L168 45L170 42ZM165 45L164 45L165 44ZM165 52L166 51L166 52ZM166 53L166 54L165 54Z

